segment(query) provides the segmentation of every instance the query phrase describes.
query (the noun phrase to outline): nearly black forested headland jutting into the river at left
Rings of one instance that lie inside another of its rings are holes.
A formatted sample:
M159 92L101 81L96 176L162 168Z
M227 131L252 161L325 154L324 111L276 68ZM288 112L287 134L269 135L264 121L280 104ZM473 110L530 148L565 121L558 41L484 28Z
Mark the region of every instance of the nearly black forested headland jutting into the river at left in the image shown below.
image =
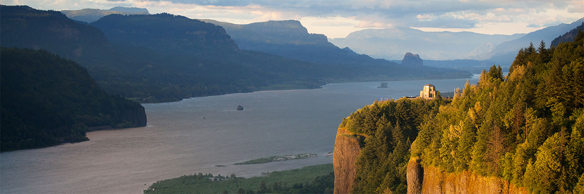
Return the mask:
M0 150L88 140L88 127L144 126L142 105L112 96L88 72L47 51L1 48Z

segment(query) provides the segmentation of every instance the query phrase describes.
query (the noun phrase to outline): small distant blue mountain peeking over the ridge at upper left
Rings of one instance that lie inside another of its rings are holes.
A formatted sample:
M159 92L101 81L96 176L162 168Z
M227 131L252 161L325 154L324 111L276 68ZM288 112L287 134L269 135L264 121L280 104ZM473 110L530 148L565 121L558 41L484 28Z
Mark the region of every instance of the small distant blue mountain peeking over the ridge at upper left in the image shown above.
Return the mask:
M67 17L79 20L82 22L91 23L94 22L103 16L112 15L112 14L121 14L121 15L148 15L148 9L145 8L126 8L126 7L114 7L112 9L79 9L79 10L61 10L61 13L67 15Z

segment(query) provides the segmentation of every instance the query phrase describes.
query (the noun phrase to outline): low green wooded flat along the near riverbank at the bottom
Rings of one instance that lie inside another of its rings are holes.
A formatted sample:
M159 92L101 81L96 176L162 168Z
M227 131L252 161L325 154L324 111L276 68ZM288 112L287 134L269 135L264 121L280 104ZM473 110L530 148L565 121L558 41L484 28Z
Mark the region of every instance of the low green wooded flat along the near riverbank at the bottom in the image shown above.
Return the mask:
M332 164L274 171L263 175L251 178L235 175L184 175L155 182L144 193L332 193Z

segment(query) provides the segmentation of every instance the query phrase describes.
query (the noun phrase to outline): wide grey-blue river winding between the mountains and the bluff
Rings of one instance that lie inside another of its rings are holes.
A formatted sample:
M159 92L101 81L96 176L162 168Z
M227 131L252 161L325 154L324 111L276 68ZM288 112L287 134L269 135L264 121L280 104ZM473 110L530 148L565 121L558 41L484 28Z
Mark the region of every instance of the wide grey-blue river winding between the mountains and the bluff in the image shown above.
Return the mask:
M322 89L258 91L143 104L148 125L87 133L89 141L0 154L0 193L142 193L152 183L197 172L252 177L332 163L342 118L380 98L418 96L467 79L328 84ZM469 79L477 83L478 77ZM242 105L244 111L235 111ZM204 119L203 119L204 118ZM261 157L318 157L232 165ZM215 167L215 165L226 165Z

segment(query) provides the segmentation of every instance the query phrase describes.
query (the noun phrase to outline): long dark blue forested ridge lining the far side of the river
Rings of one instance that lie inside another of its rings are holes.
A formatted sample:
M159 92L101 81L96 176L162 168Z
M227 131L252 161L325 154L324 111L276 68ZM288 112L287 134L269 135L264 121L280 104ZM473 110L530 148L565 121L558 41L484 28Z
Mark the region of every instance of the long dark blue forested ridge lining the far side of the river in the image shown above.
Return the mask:
M468 77L397 65L314 64L239 50L222 27L166 13L109 15L88 26L55 11L1 6L5 47L43 48L84 66L102 89L144 103L331 82Z

